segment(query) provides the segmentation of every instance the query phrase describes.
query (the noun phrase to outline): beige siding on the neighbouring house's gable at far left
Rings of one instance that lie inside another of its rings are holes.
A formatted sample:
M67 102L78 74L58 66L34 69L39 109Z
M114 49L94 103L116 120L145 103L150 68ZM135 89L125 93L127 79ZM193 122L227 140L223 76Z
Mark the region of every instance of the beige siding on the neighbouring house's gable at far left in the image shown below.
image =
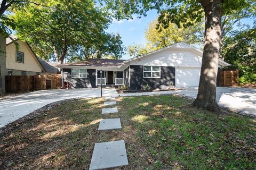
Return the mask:
M16 48L14 43L6 46L6 68L32 72L42 72L42 69L26 43L18 40L19 52L24 53L24 63L16 62Z

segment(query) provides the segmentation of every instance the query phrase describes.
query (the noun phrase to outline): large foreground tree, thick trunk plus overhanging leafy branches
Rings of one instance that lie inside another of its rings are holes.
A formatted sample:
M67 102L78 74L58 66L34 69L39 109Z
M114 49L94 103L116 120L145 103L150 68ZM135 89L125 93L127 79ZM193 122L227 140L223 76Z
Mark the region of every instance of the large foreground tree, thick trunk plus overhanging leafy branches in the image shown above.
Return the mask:
M194 22L205 19L204 50L202 58L201 75L198 94L193 105L211 111L219 111L216 100L216 85L218 59L221 48L221 19L222 15L229 15L234 11L243 11L250 5L255 5L255 0L169 0L169 1L117 1L105 0L113 10L116 18L132 18L132 14L146 15L151 9L156 9L160 15L158 22L164 28L169 23L186 23L188 27Z

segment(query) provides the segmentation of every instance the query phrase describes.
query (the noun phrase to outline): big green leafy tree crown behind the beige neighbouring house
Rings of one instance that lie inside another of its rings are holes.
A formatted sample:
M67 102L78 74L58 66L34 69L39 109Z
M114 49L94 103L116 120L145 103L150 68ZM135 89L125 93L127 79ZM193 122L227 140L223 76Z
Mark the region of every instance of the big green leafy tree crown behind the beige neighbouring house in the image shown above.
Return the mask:
M30 4L14 11L13 19L20 39L28 41L39 57L52 57L59 64L71 47L81 39L90 42L110 22L108 13L91 0L51 1L47 7Z

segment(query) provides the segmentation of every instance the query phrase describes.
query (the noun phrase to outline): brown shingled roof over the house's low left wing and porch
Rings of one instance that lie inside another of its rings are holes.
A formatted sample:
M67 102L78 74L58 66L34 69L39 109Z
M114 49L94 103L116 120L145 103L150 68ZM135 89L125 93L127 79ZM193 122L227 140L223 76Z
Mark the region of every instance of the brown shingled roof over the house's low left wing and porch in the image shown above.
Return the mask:
M125 60L88 59L84 62L59 64L58 66L111 67L111 66L121 66L124 61Z

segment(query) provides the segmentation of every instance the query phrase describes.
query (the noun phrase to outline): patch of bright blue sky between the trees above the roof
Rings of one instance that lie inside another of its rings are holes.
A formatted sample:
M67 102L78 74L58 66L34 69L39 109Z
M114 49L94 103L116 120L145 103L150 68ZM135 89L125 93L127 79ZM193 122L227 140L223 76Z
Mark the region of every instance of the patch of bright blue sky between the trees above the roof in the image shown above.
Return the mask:
M113 20L108 28L109 33L119 33L122 37L123 45L128 47L129 45L135 44L146 44L145 30L149 22L156 19L158 16L156 10L147 12L147 16L134 15L133 20ZM122 59L126 60L131 58L127 52L123 55Z

